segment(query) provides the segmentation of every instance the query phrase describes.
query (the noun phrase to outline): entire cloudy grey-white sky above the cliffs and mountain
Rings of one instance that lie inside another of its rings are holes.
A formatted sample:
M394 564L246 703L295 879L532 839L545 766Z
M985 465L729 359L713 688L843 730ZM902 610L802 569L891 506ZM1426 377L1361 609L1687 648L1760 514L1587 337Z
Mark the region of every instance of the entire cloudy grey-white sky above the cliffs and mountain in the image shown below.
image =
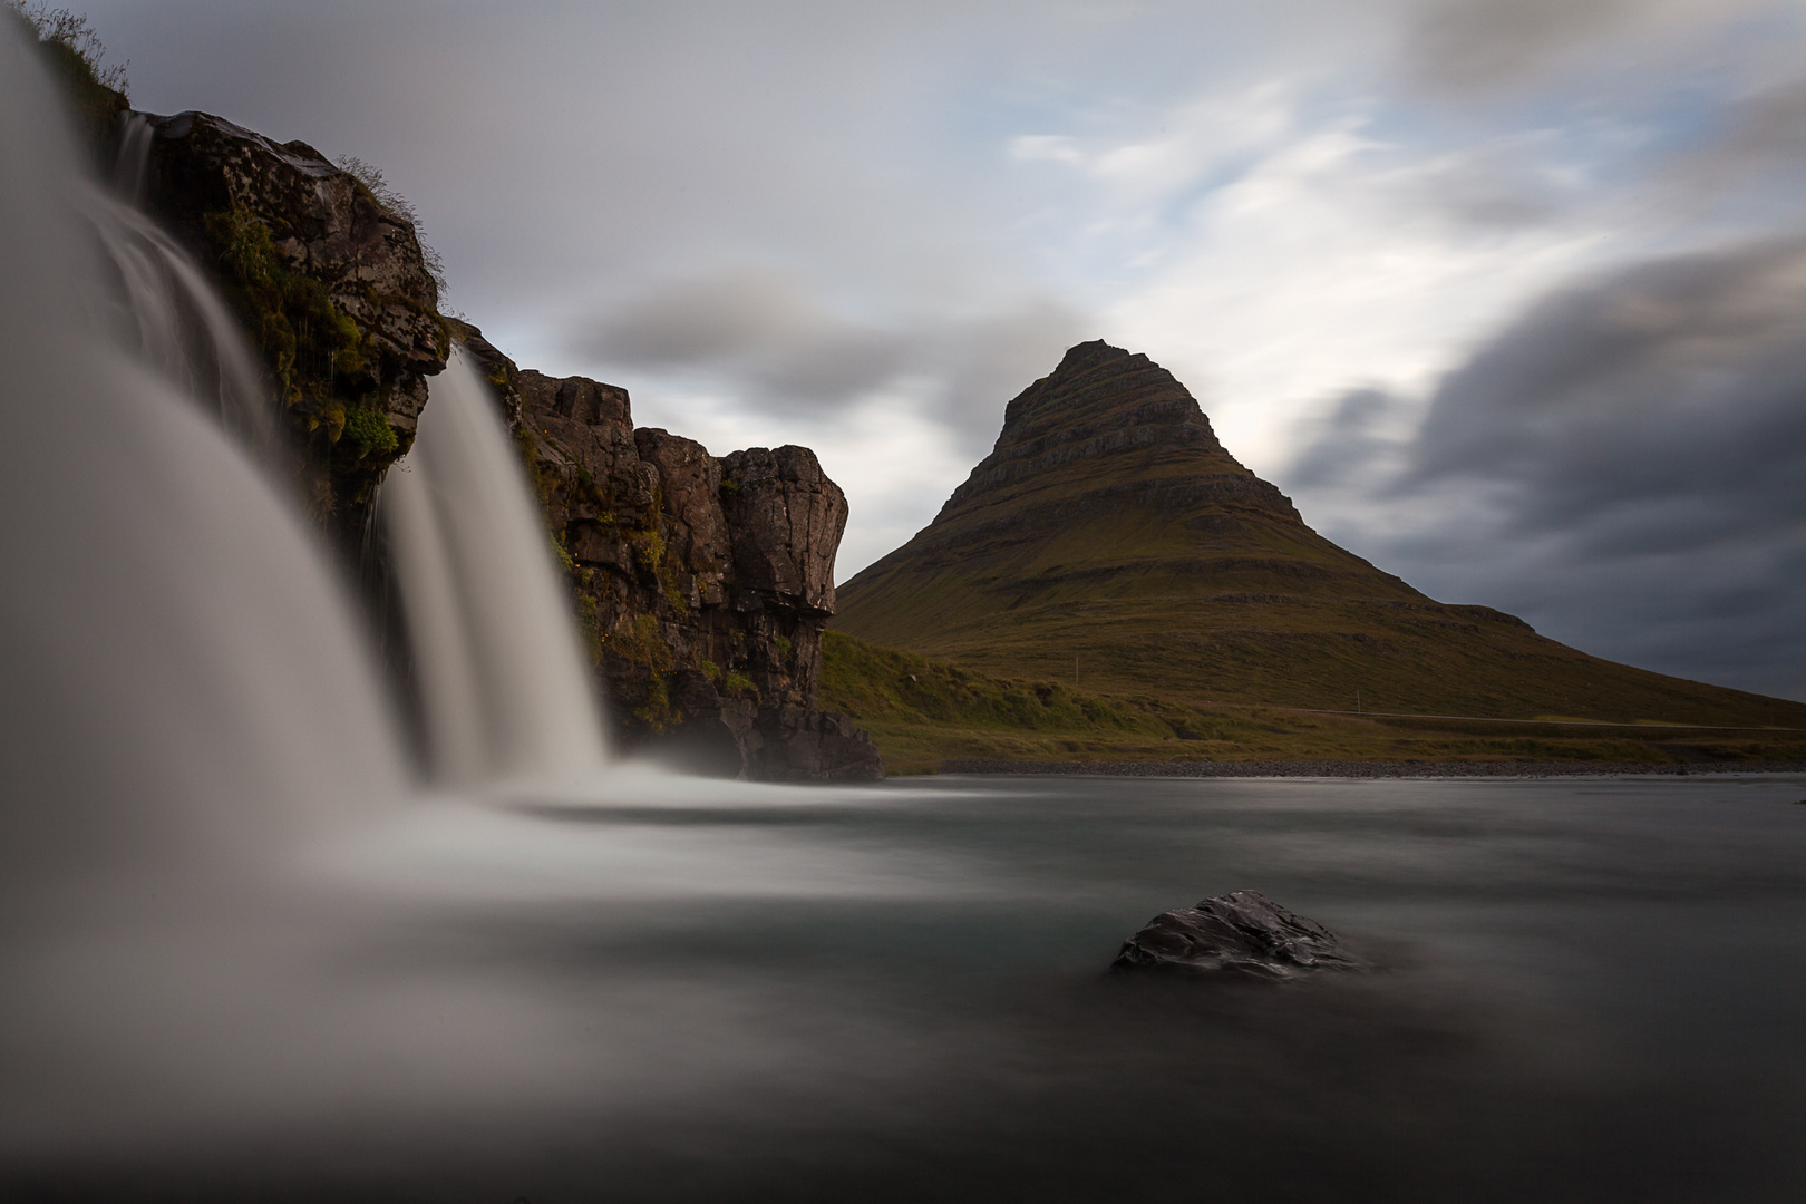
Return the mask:
M87 13L379 166L524 366L815 448L842 581L1103 338L1432 597L1806 700L1802 0Z

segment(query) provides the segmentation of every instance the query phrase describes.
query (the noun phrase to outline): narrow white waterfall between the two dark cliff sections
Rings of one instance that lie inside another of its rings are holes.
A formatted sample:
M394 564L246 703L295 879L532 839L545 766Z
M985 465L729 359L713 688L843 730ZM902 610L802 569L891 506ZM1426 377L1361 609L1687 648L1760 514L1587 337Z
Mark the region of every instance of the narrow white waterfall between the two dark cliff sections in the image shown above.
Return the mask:
M433 774L462 785L594 778L601 720L545 525L462 350L432 381L379 522Z

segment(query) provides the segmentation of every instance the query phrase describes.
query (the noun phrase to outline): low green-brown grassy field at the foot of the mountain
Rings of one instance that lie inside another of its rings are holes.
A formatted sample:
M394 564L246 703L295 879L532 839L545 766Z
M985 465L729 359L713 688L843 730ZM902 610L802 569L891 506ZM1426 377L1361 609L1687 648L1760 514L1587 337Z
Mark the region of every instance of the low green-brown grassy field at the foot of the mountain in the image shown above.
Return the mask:
M945 760L1806 760L1806 731L1651 724L1497 724L1396 715L1324 715L1284 706L1201 706L1071 682L991 677L829 632L820 706L872 733L885 769L934 773Z

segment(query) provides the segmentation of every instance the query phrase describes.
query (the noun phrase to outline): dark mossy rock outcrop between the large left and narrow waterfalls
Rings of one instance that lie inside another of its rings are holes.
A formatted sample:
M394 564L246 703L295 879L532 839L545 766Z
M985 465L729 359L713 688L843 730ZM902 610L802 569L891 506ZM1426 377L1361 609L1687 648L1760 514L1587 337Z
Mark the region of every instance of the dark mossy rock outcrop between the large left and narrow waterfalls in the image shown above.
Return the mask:
M148 208L246 320L316 516L356 531L452 347L414 224L305 143L199 112L150 121Z

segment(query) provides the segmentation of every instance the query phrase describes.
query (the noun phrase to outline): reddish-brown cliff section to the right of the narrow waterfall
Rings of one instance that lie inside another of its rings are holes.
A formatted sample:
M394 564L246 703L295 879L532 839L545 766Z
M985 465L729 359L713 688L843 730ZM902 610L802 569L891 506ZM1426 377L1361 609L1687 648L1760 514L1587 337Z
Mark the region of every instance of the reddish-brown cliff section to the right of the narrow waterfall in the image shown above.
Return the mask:
M847 498L807 448L715 458L634 430L627 390L464 347L527 457L628 747L768 782L872 780L845 715L815 709Z

